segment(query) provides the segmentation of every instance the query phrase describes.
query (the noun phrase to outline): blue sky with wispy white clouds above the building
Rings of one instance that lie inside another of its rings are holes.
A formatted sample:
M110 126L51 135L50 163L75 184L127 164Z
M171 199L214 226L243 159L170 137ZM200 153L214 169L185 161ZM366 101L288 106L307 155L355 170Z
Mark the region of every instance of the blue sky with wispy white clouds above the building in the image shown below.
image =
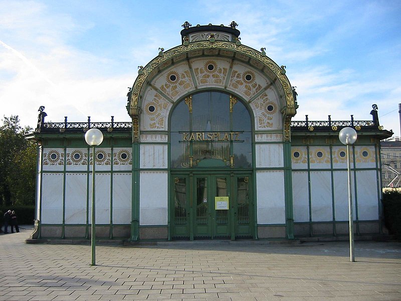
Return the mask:
M0 116L35 127L129 121L127 87L158 48L180 44L188 21L229 25L266 47L297 87L293 120L370 120L399 132L400 1L8 1L0 0Z

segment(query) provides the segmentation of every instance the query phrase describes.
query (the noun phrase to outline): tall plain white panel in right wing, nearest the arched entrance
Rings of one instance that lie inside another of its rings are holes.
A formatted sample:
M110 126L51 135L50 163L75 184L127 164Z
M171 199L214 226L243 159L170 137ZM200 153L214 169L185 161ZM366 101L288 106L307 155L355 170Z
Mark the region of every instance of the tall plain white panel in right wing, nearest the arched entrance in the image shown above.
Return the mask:
M292 172L294 221L309 221L309 186L307 172Z

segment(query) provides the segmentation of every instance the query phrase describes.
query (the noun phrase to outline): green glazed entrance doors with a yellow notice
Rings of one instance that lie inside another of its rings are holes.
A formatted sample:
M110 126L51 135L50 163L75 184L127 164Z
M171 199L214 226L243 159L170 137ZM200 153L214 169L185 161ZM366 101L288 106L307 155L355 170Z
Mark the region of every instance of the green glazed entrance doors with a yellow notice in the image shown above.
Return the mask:
M253 237L250 175L173 175L172 239Z

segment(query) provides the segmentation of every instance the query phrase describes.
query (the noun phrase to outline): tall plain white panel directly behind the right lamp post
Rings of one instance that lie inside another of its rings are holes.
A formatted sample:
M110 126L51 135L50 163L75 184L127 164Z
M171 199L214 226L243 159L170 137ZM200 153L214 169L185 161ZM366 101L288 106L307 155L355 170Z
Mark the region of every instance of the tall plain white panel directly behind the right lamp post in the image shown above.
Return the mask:
M333 172L334 178L334 214L336 221L348 220L348 176L347 171ZM351 192L353 218L355 219L355 193L353 173L351 173Z

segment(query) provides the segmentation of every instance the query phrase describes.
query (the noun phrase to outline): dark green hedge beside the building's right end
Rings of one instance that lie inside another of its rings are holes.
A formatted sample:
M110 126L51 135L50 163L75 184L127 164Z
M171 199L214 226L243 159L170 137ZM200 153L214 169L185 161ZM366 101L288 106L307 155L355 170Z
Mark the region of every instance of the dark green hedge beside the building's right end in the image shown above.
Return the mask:
M401 192L385 191L382 203L385 226L390 234L401 239Z

